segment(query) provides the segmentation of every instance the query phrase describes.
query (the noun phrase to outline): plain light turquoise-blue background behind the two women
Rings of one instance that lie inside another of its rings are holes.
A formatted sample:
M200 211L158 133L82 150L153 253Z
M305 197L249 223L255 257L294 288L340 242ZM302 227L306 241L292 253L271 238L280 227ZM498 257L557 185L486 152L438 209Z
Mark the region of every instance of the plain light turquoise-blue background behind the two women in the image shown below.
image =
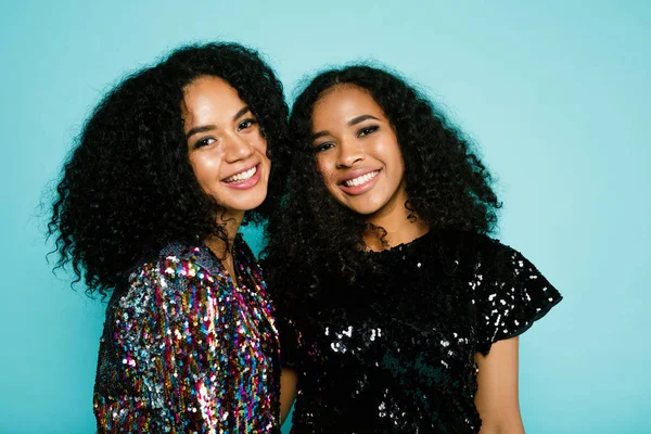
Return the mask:
M94 430L103 306L52 276L41 205L104 91L214 39L260 49L289 97L376 59L438 101L498 177L500 238L565 296L521 340L527 433L651 432L651 2L102 3L0 5L0 433Z

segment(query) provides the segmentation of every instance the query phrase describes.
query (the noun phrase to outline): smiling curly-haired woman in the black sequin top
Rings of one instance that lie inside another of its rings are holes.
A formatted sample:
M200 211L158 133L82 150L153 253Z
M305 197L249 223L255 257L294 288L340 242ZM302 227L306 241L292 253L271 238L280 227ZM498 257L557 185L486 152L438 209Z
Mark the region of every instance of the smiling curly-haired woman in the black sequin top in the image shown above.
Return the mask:
M518 336L561 296L487 237L500 203L471 144L368 66L318 75L290 135L266 270L291 432L523 433Z

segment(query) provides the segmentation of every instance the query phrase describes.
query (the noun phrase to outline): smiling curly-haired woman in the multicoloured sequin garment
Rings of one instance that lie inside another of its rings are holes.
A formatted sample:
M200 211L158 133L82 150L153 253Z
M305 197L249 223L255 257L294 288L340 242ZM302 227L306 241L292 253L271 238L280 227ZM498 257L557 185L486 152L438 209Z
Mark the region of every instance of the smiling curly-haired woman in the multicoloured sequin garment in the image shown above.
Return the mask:
M98 432L279 432L278 332L238 229L268 212L286 115L255 51L209 43L129 76L86 123L50 233L60 266L112 292Z

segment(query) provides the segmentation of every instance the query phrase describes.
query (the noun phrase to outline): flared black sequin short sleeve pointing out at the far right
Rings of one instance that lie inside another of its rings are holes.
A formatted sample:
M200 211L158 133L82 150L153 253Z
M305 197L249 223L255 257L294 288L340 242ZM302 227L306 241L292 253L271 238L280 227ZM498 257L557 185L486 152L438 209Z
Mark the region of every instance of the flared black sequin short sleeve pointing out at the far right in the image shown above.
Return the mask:
M542 318L562 296L520 252L487 239L478 248L473 303L477 314L477 352L518 336Z

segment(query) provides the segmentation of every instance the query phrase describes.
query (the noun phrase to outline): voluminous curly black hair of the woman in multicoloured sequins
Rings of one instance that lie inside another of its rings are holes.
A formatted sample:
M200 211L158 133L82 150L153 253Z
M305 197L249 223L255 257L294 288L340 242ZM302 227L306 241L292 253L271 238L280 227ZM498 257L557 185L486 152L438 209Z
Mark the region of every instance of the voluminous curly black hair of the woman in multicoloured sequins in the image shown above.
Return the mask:
M260 55L216 42L182 47L127 77L95 107L64 164L48 224L56 268L72 266L87 294L106 296L139 260L170 242L209 235L219 205L204 193L188 159L181 117L183 89L200 76L228 81L257 117L268 154L286 141L282 85ZM276 190L246 214L260 221Z

